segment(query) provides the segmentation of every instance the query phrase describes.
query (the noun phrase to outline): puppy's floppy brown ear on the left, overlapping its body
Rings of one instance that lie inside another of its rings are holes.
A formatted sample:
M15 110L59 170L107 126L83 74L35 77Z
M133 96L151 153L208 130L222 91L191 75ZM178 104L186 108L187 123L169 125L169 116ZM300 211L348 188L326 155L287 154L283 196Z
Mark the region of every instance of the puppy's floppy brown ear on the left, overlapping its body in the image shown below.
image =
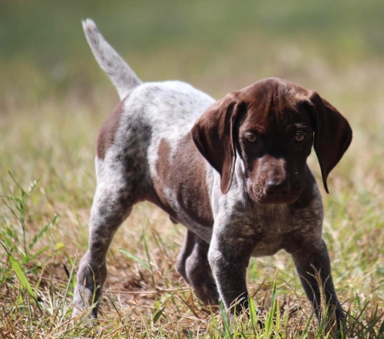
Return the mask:
M238 111L236 98L230 93L208 107L191 130L193 141L200 153L220 173L222 194L229 191L234 175L234 127Z

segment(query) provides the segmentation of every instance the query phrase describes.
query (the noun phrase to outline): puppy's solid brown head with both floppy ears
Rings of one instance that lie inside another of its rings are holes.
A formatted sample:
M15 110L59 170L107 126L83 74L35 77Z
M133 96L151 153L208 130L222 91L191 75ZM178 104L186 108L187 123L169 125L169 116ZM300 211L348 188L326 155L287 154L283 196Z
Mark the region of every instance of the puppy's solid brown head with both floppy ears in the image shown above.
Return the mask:
M231 186L239 156L249 196L265 205L299 198L312 145L328 192L328 174L349 147L352 129L316 92L269 78L211 105L196 121L192 136L220 173L223 194Z

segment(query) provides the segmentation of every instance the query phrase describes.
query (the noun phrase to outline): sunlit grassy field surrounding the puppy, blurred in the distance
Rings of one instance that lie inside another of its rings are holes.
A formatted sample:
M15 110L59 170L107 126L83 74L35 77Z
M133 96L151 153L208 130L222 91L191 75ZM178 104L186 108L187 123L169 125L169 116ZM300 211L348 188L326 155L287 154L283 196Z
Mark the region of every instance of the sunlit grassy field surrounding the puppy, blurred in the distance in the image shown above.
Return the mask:
M200 304L174 269L184 227L141 203L107 255L100 319L71 321L95 140L119 102L80 20L143 81L219 99L277 76L318 91L354 139L322 189L343 338L384 338L384 6L367 1L1 1L0 338L331 338L284 251L253 259L265 328ZM309 163L321 182L315 153Z

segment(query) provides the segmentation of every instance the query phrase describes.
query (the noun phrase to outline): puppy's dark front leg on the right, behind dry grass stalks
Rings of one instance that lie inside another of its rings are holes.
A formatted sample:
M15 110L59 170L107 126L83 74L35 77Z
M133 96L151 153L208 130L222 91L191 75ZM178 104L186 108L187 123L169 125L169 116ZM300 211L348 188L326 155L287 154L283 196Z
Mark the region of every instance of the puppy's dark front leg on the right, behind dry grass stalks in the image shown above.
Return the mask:
M344 311L333 286L330 258L324 240L320 239L318 244L295 251L292 258L318 319L321 320L324 316L327 316L328 319L331 316L330 319L332 319L335 316L337 328L340 328L340 323L344 319ZM330 307L329 313L325 314L325 308L328 306Z

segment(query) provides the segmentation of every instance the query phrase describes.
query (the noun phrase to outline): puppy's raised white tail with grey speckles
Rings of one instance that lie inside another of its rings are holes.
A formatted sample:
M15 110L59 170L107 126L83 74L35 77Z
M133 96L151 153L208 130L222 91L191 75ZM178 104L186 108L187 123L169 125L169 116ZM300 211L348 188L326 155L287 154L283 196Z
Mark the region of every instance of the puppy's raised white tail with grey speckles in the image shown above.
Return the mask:
M142 83L135 72L104 39L91 19L83 21L88 44L99 66L105 71L119 93L121 100L128 92Z

